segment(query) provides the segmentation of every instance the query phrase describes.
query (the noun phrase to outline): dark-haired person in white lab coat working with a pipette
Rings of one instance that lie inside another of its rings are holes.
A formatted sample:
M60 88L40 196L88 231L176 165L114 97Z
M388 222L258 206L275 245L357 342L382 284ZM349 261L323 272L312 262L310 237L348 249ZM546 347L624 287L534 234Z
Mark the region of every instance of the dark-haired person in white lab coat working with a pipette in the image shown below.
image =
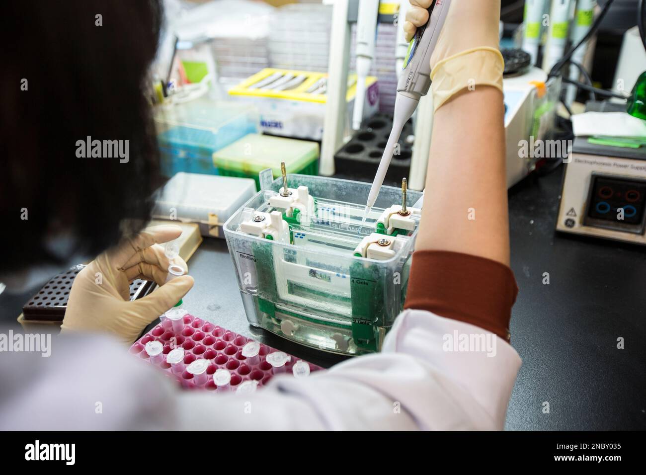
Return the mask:
M430 0L411 3L409 37L426 23ZM436 111L422 219L405 310L382 352L306 379L276 377L244 398L178 390L123 346L193 286L188 276L163 284L160 244L178 237L177 227L136 234L158 186L142 91L159 5L19 5L6 13L16 45L4 49L0 75L0 206L12 229L0 281L34 282L56 263L108 250L75 280L51 357L0 354L0 428L503 428L521 360L508 343L517 287L508 267L499 0L453 0L431 58ZM129 161L77 158L74 144L87 136L128 139ZM135 278L163 285L129 302ZM445 335L485 333L497 335L494 352L444 346Z

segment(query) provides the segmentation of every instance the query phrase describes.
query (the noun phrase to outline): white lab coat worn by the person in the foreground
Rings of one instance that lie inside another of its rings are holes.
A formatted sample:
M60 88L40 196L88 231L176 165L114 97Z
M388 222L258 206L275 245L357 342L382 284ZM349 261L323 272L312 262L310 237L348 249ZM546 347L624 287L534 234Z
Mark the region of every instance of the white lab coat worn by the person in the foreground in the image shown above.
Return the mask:
M103 337L59 338L48 358L0 353L0 429L502 429L521 359L499 337L495 356L445 351L455 330L484 333L406 310L380 354L244 396L179 390Z

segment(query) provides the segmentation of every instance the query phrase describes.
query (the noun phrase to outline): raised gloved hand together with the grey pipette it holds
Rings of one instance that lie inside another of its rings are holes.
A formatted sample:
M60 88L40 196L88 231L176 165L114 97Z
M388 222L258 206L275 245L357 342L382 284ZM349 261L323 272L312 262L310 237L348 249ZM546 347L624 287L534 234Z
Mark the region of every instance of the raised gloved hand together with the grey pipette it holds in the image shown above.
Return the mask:
M404 32L412 44L397 85L393 131L368 196L368 209L377 200L404 124L429 88L436 111L468 88L503 89L499 30L491 28L499 25L499 0L411 0L411 4Z

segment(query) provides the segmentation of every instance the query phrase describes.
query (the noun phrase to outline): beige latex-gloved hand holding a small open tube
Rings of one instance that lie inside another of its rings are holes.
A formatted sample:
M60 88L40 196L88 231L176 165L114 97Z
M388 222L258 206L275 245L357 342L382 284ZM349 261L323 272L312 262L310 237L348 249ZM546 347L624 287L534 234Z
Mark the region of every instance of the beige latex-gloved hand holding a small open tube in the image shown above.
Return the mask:
M149 227L90 262L74 279L61 332L112 333L123 343L132 343L193 287L189 275L164 283L169 259L160 244L181 234L179 226ZM173 263L187 270L181 257ZM134 279L154 280L160 287L130 302L130 282Z

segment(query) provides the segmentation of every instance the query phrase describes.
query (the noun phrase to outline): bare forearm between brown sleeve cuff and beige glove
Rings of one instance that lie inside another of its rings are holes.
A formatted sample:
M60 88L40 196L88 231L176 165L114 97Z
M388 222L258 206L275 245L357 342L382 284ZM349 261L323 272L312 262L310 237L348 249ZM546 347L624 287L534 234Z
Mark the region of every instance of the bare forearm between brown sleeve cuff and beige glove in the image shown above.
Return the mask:
M502 93L465 89L435 112L416 250L509 265Z

